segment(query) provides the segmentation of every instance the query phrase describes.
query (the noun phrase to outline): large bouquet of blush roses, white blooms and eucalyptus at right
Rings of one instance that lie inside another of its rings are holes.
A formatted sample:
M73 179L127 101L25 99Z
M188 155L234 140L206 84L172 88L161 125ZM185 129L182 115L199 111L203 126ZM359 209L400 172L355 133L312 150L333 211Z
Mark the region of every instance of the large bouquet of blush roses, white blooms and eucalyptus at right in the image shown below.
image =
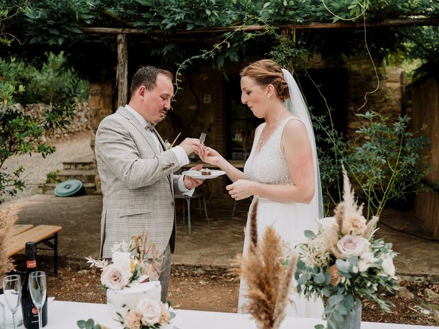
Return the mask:
M392 303L383 300L383 295L398 290L392 244L374 239L378 217L366 221L344 168L343 175L344 200L335 208L334 217L320 219L317 234L305 231L307 242L298 245L295 274L298 291L307 297L328 297L324 317L333 328L344 328L344 317L361 298L390 312Z

